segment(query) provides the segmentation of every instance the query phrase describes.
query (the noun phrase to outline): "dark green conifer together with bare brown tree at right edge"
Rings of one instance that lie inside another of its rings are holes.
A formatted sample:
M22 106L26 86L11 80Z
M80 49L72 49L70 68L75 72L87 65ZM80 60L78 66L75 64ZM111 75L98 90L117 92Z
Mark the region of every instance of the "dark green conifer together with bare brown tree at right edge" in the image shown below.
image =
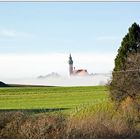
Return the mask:
M110 84L111 98L120 102L140 96L140 27L134 23L123 38Z

